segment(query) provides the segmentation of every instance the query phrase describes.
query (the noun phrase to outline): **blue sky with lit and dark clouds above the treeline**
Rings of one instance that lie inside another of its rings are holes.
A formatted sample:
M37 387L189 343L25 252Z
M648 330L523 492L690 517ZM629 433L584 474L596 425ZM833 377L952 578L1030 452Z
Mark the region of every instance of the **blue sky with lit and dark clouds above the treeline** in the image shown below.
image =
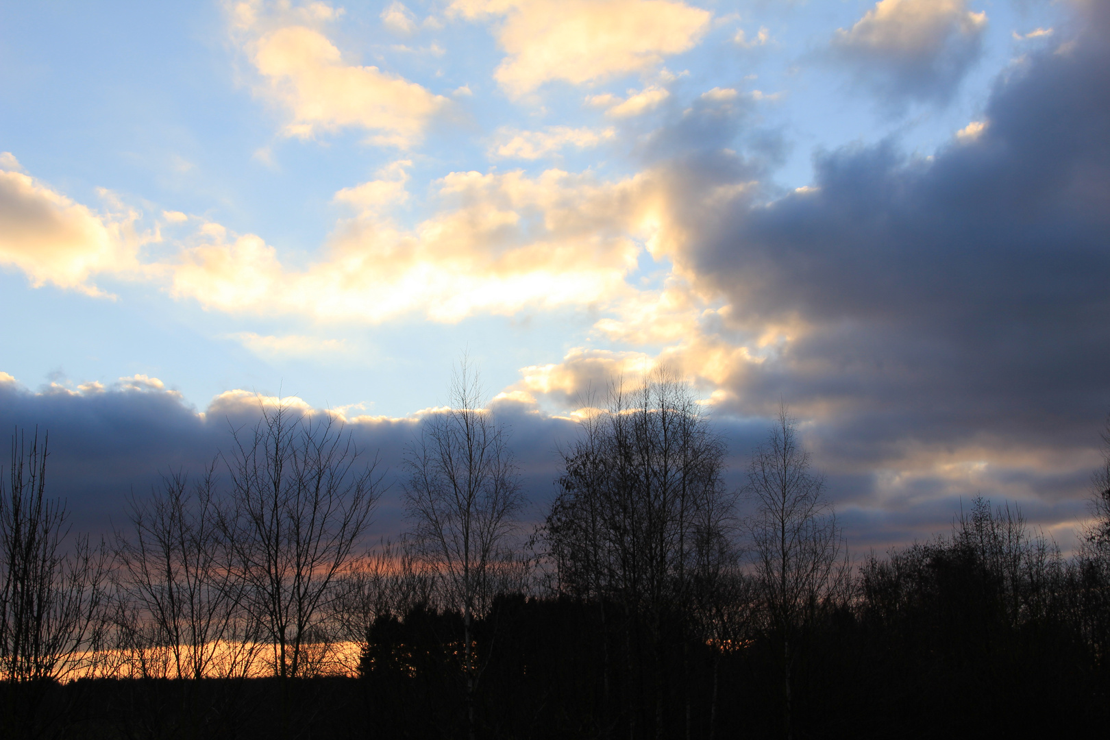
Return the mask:
M92 529L286 398L398 530L465 354L531 516L666 366L730 485L786 404L852 549L976 495L1069 548L1108 278L1096 0L0 2L0 424Z

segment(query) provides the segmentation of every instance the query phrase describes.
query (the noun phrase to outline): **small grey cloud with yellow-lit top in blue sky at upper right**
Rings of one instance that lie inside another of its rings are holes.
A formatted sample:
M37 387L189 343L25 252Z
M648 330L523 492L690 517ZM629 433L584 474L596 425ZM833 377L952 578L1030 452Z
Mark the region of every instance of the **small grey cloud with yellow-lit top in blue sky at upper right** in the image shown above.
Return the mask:
M987 13L966 0L880 0L830 48L888 104L946 102L979 59L986 28Z

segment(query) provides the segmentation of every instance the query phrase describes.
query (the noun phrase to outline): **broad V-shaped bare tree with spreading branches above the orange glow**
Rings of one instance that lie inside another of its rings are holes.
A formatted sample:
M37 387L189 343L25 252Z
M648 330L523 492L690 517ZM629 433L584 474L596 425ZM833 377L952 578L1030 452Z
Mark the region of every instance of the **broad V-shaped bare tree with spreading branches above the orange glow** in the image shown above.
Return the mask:
M382 477L376 459L360 465L350 434L331 416L263 405L254 428L233 435L232 507L223 528L242 605L273 648L274 675L301 676L336 577L370 525Z

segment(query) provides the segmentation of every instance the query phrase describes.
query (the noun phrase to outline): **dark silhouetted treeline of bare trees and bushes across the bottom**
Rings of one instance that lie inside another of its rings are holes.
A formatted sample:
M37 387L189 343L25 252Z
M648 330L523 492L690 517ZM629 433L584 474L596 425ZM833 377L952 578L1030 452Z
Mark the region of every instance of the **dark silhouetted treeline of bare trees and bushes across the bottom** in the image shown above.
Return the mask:
M525 531L507 430L465 365L407 448L407 534L327 417L263 408L200 472L68 535L47 444L0 489L0 734L725 738L1059 732L1110 710L1110 456L1070 557L976 499L852 561L780 410L747 484L665 374L561 450ZM1107 439L1110 450L1110 438ZM743 504L743 505L741 505ZM741 517L740 510L748 511Z

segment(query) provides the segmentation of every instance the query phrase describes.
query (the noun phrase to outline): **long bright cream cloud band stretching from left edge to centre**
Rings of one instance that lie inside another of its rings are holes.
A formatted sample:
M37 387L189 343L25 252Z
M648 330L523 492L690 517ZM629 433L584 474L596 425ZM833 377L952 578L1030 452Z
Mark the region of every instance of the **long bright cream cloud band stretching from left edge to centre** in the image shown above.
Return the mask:
M577 132L568 138L582 141ZM432 215L401 226L389 210L408 197L410 165L395 161L377 179L336 192L335 202L353 215L337 223L302 268L291 267L256 234L233 234L179 212L162 219L175 231L185 224L190 231L173 249L143 261L138 246L160 239L157 232L135 237L130 221L105 222L30 175L4 172L0 184L13 183L14 196L2 201L0 216L12 227L0 237L7 240L0 255L36 284L92 294L98 288L88 278L103 272L164 285L175 298L228 313L457 322L526 307L618 305L636 294L627 277L640 255L664 259L685 239L669 213L662 171L612 181L588 170L551 169L535 176L454 172L435 182Z

